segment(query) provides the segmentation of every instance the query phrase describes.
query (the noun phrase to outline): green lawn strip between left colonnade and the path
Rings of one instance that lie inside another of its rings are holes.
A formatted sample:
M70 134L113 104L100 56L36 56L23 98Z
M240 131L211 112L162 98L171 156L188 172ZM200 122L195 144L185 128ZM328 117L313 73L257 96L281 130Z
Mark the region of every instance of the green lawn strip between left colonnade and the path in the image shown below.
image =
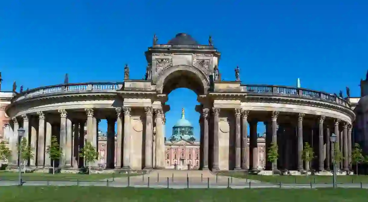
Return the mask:
M130 174L136 176L137 174ZM112 177L127 177L125 173L114 174L77 174L77 173L22 173L24 181L97 181ZM18 172L0 172L0 180L18 180Z

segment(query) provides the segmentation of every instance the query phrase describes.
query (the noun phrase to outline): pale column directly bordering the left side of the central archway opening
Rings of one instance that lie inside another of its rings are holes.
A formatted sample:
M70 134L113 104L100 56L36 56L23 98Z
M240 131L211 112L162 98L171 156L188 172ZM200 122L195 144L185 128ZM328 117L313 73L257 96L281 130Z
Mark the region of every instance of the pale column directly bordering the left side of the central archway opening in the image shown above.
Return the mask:
M163 169L164 158L164 136L162 134L162 109L155 109L156 118L156 169Z

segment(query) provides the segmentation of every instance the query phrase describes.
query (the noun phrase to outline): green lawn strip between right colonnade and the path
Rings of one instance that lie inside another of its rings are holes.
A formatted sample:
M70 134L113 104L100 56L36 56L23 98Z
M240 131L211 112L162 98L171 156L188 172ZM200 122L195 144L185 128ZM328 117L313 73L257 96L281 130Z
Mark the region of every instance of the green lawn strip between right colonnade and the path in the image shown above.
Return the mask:
M332 176L260 176L260 175L247 175L241 173L220 173L219 175L232 176L237 178L248 178L251 180L259 180L270 183L332 183ZM368 176L366 175L350 175L350 176L337 176L337 183L368 183Z

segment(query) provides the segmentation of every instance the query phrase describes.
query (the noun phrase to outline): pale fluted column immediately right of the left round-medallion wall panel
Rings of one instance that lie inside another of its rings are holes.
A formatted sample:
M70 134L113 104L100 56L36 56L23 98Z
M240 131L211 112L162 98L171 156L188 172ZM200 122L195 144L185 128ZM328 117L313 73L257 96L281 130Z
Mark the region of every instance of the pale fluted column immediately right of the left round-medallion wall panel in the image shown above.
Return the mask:
M152 169L152 140L153 140L153 125L152 125L152 107L145 107L146 112L146 133L145 133L145 166L144 169Z

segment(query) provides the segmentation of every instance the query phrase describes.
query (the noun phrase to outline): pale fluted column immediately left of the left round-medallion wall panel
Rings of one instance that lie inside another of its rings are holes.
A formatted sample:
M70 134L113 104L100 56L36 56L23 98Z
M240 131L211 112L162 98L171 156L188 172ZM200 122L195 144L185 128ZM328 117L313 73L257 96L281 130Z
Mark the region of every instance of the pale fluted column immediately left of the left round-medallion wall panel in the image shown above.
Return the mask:
M123 107L124 137L123 137L123 168L130 169L130 107Z

